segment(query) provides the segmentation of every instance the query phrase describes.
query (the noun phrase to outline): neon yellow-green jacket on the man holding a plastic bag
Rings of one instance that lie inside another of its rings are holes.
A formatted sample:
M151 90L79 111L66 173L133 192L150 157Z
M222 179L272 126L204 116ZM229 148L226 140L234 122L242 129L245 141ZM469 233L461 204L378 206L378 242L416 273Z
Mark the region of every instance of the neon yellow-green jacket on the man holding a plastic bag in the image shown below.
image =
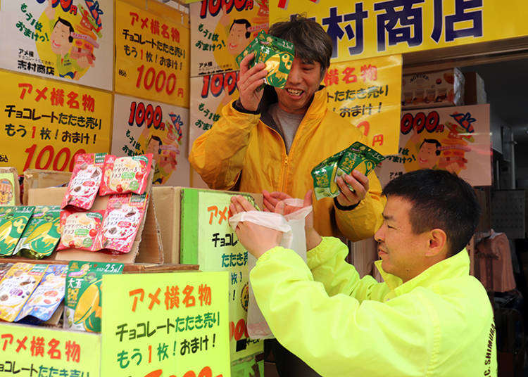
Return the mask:
M284 347L324 377L496 376L493 312L465 250L402 284L359 279L346 245L268 250L250 274L258 306ZM311 270L311 271L310 271Z

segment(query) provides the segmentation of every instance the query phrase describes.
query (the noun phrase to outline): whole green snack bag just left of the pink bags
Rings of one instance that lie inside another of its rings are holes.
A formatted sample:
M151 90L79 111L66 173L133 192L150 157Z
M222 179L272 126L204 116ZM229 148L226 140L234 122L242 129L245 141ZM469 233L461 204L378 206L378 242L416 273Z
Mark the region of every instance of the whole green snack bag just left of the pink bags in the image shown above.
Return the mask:
M36 205L13 254L32 259L42 259L53 253L61 238L59 205Z

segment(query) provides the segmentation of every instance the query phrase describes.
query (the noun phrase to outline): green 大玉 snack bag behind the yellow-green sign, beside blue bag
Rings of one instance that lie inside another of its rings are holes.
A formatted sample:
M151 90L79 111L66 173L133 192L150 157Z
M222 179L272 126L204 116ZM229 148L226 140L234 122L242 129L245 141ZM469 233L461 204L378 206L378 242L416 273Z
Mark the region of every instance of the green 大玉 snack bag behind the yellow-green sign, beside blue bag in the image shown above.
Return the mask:
M101 282L105 274L121 274L122 263L72 261L64 297L64 328L101 332Z

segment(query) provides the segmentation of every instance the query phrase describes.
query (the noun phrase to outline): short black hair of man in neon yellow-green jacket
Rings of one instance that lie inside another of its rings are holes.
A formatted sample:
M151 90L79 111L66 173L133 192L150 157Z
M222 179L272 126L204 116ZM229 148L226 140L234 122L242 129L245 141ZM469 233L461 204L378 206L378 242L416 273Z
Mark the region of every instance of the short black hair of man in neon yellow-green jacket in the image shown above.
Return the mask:
M479 224L480 205L473 188L446 170L408 172L386 184L383 193L411 203L409 217L415 234L435 228L445 231L448 257L465 248Z

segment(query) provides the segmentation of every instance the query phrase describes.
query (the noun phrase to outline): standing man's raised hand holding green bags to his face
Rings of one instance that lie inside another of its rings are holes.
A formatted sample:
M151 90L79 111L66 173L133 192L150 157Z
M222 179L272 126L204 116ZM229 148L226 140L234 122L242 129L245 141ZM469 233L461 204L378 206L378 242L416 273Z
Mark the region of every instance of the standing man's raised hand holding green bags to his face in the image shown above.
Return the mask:
M263 95L263 90L260 89L260 86L264 84L264 77L268 75L264 63L258 63L252 68L249 68L249 62L251 62L253 56L255 56L255 53L252 52L241 60L239 81L237 82L240 104L249 111L256 111L258 109Z

